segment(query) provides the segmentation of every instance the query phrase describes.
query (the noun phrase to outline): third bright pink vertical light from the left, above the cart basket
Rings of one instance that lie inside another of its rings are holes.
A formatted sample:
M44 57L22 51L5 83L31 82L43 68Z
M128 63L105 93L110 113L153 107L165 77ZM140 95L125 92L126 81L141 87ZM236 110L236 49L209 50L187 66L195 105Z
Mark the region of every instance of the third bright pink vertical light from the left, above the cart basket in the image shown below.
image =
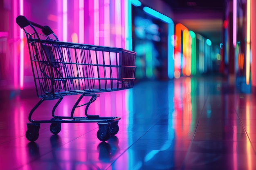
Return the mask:
M84 43L84 2L79 0L79 43Z

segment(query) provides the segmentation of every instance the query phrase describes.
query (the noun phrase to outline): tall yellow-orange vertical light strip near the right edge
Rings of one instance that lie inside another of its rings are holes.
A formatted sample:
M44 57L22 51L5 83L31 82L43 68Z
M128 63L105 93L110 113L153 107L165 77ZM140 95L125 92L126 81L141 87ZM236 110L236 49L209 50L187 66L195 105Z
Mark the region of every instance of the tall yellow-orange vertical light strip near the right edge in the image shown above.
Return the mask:
M251 0L247 0L247 20L246 20L246 84L250 82L250 53L251 53Z

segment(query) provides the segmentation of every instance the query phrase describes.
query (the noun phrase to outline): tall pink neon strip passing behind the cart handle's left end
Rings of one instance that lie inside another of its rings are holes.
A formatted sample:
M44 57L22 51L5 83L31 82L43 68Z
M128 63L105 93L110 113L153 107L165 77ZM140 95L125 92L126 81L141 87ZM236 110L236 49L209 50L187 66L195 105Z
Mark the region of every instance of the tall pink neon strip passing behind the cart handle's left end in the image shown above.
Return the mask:
M20 0L20 15L23 15L23 0ZM20 90L24 88L24 35L20 29Z

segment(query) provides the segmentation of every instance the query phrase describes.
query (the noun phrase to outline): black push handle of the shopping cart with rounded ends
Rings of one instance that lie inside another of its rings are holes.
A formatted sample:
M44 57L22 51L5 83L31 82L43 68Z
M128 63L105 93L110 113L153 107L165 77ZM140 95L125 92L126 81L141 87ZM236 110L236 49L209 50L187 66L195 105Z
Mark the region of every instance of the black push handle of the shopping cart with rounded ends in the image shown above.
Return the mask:
M49 26L42 26L40 24L36 24L35 22L27 20L27 18L23 15L19 15L16 18L17 24L20 26L20 28L24 28L26 26L29 26L30 24L33 26L36 26L37 28L42 29L43 34L45 35L50 35L53 33L52 29Z

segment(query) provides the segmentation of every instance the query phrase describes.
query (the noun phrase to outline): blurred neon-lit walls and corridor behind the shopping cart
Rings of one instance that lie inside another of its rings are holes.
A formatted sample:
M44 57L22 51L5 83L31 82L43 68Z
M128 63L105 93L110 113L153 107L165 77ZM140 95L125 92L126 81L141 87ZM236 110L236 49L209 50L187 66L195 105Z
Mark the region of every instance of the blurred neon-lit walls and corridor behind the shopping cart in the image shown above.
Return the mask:
M137 52L137 82L216 74L255 91L254 7L253 0L0 0L0 99L36 94L18 15L50 26L60 41Z

